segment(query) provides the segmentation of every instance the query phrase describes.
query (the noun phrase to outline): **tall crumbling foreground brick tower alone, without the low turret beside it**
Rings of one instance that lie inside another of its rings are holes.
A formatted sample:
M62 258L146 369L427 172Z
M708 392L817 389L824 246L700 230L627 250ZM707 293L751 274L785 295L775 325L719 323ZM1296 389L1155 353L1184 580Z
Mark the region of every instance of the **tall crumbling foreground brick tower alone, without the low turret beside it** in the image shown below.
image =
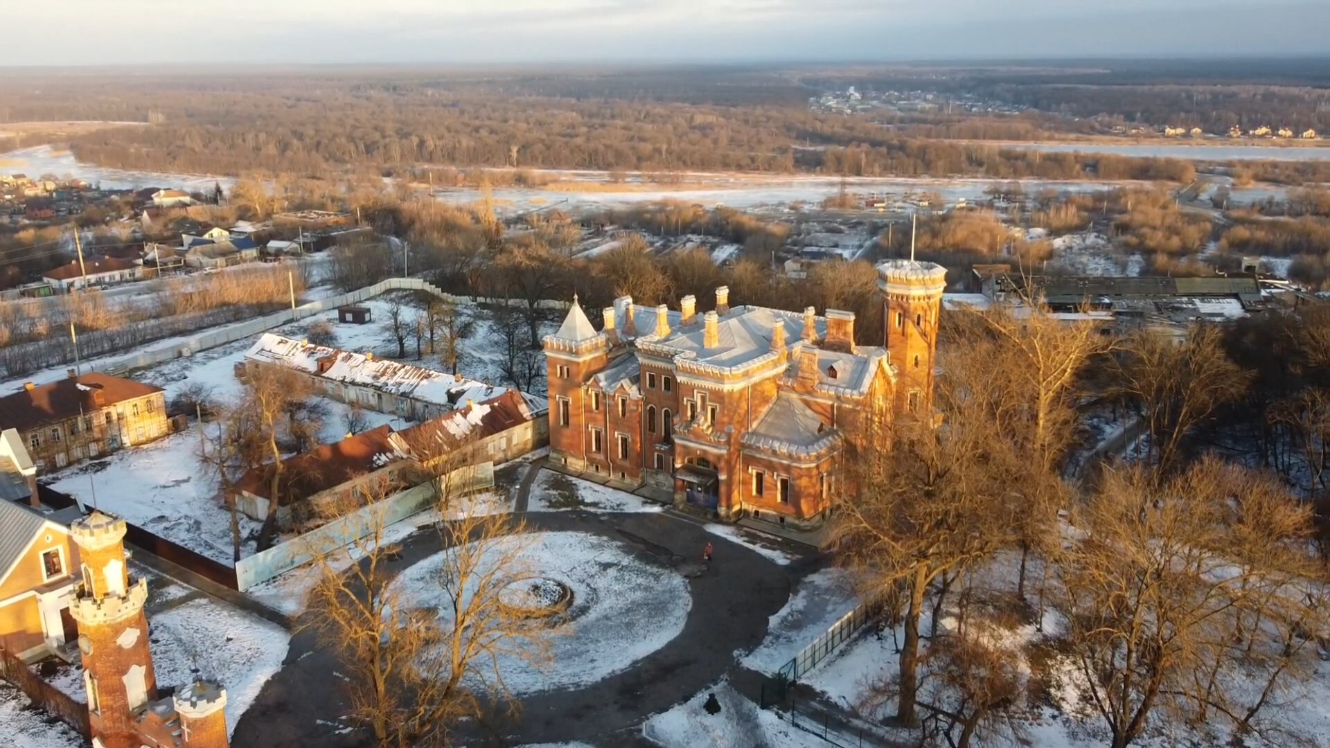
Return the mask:
M148 580L125 566L125 520L100 511L76 520L82 582L69 604L78 623L93 745L138 748L134 711L157 699L144 602Z

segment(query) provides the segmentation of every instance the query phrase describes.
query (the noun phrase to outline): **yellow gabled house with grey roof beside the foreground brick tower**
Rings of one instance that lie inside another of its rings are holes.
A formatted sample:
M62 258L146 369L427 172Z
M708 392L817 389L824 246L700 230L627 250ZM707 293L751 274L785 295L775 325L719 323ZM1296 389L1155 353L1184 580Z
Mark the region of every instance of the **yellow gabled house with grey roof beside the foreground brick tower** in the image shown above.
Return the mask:
M65 655L77 638L69 600L78 548L60 520L68 514L0 500L0 647L25 661Z

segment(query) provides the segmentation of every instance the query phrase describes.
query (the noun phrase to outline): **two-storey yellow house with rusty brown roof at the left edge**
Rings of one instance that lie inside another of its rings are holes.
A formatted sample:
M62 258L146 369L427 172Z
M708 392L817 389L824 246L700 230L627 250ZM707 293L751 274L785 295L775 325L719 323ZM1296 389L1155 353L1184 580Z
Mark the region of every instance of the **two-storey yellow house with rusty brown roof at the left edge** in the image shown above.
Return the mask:
M0 398L0 429L15 429L37 472L56 470L170 433L165 394L96 371L49 385L27 383Z

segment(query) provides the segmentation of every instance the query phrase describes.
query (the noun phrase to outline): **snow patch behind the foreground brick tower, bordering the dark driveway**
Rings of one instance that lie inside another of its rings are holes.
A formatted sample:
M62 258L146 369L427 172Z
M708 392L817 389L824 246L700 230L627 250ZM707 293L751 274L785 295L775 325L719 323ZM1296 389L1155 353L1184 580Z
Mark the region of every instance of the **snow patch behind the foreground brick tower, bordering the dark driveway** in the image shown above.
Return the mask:
M291 642L275 623L206 596L149 615L148 630L157 683L186 685L196 676L221 681L229 729L282 668ZM51 684L88 703L80 664L63 665Z

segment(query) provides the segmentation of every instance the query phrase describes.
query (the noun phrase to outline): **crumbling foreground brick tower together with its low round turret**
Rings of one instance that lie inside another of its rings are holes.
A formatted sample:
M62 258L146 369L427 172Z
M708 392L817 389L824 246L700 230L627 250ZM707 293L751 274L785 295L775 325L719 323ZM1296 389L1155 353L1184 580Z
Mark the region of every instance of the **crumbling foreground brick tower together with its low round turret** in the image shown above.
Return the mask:
M78 624L94 748L226 748L226 691L196 683L157 697L148 647L148 580L129 575L125 520L100 511L69 528L81 582L69 612Z

